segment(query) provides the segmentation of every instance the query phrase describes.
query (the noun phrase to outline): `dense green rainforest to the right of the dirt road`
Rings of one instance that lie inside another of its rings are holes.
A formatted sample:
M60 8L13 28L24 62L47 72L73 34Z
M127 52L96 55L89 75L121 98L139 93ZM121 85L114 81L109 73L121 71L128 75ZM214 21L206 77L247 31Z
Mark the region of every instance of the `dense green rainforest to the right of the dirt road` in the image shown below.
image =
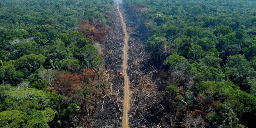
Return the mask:
M255 127L255 5L254 0L125 0L150 63L160 72L157 91L164 92L154 103L149 99L145 110L135 109L144 113L140 126Z

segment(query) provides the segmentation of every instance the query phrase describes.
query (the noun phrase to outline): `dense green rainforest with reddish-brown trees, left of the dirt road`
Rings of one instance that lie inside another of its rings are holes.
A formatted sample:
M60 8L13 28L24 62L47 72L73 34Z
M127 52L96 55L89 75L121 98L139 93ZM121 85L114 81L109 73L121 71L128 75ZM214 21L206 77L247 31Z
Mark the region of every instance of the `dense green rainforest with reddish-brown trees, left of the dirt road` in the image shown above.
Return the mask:
M0 1L1 128L87 127L109 84L101 47L113 3Z

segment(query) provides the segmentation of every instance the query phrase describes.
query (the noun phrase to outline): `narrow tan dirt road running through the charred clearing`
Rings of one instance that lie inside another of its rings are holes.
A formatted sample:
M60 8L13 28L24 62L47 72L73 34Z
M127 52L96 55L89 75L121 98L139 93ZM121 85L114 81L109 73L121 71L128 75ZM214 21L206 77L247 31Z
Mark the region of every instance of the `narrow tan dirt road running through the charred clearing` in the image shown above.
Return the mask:
M123 24L123 31L125 33L125 39L124 39L124 48L123 48L123 66L122 66L122 69L123 69L123 75L124 75L124 79L125 79L125 82L124 82L124 102L123 102L123 117L122 117L122 127L123 128L129 128L129 120L128 120L128 111L129 111L129 108L130 108L130 98L129 98L129 77L127 75L127 72L126 72L126 68L127 68L127 59L128 59L128 55L127 55L127 43L128 43L128 34L127 34L127 31L126 31L126 25L125 25L125 22L124 22L124 18L122 16L122 13L120 12L119 10L119 4L117 3L117 10L119 12L119 15L120 15L120 18L121 18L121 22Z

